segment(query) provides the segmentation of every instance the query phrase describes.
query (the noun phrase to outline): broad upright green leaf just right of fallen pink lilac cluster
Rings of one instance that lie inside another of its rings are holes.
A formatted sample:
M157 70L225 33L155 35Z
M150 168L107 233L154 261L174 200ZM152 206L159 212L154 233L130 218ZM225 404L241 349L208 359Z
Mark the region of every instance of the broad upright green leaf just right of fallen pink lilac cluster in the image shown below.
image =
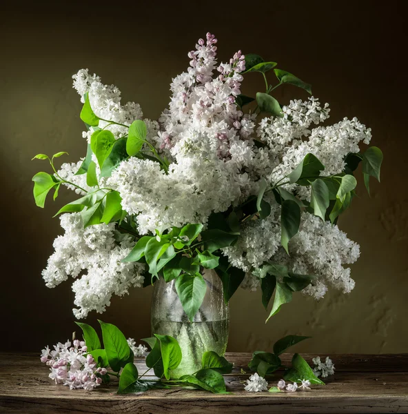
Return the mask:
M128 362L133 362L133 353L119 328L102 321L99 321L99 324L101 324L103 346L105 346L110 368L119 372Z

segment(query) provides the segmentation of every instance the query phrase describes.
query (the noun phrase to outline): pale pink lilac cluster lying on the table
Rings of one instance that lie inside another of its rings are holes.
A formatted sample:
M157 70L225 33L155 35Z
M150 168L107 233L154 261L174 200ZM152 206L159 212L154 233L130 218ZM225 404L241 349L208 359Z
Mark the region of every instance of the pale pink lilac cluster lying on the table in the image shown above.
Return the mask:
M68 385L70 389L83 388L92 391L102 384L101 375L107 373L106 368L97 368L92 355L87 354L85 342L74 340L54 345L50 351L48 346L41 353L41 362L50 367L49 377L55 384Z

